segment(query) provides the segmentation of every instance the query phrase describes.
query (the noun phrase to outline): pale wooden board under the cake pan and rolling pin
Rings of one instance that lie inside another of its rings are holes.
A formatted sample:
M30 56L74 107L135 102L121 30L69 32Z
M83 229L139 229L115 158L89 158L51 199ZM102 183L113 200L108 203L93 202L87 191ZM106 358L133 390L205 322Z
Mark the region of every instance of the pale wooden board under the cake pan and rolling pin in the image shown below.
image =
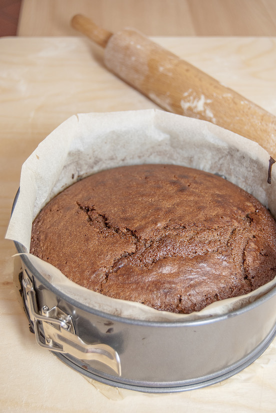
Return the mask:
M276 115L276 38L154 40ZM102 51L79 37L0 39L0 411L274 412L276 340L249 367L210 387L148 395L90 383L40 348L12 283L3 240L20 167L57 125L79 112L156 107L107 72Z

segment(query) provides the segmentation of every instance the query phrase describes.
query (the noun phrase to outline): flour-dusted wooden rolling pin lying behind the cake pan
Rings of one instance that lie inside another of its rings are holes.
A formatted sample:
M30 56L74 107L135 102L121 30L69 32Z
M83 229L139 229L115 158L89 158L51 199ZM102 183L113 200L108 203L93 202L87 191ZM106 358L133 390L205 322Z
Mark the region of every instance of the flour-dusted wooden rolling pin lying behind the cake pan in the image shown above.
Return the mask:
M258 142L276 157L276 117L132 29L112 34L76 15L74 29L105 48L105 66L161 108Z

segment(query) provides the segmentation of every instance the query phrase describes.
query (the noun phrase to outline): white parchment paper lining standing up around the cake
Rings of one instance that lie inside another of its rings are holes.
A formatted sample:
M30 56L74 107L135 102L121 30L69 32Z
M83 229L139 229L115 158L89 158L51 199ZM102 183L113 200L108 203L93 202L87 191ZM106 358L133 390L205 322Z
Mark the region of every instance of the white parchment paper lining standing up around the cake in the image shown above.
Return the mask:
M159 111L78 114L48 135L22 165L20 193L6 238L20 242L37 270L57 289L92 308L133 319L175 321L238 309L276 285L276 278L244 296L199 312L173 314L116 300L68 280L28 253L31 224L40 209L78 179L102 169L143 163L184 165L217 173L254 195L276 215L275 173L267 183L269 154L257 143L209 122Z

